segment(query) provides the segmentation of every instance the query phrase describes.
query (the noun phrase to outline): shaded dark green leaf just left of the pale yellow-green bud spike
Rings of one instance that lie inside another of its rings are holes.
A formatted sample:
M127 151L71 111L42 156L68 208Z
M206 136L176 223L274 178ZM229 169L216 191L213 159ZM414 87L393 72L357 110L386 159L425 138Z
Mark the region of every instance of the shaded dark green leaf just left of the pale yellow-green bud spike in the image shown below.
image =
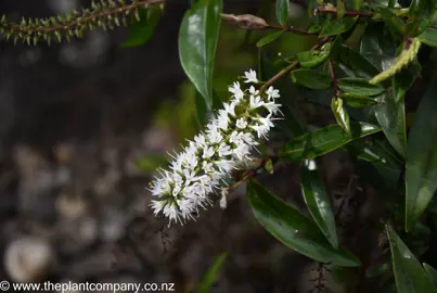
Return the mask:
M344 44L340 47L338 61L352 71L357 77L371 78L380 73L362 54Z

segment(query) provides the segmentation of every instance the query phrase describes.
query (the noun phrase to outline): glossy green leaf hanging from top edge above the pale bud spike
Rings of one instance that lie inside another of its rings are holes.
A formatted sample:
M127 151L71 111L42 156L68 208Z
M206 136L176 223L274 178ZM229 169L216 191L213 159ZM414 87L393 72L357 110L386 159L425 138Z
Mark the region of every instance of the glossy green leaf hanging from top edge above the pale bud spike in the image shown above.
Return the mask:
M435 0L412 0L409 9L410 20L407 25L407 34L417 36L430 23L436 7Z

